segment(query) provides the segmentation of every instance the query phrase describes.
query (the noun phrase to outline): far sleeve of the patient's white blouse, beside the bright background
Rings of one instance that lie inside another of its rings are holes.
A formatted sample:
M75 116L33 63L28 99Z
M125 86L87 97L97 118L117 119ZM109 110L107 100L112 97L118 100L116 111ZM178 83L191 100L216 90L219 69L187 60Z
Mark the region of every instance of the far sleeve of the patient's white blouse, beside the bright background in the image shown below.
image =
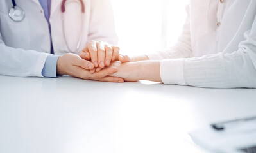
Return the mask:
M171 48L166 48L165 50L146 54L149 59L159 60L192 57L189 6L186 7L186 11L187 19L183 25L182 34L180 34L175 45Z

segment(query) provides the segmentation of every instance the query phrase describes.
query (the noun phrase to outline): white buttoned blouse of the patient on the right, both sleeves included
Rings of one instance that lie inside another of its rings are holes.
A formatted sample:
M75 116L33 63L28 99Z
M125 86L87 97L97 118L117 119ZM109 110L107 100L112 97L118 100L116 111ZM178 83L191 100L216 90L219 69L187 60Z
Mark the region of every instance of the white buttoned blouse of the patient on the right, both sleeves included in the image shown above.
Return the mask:
M191 0L178 42L149 54L164 84L256 88L256 0Z

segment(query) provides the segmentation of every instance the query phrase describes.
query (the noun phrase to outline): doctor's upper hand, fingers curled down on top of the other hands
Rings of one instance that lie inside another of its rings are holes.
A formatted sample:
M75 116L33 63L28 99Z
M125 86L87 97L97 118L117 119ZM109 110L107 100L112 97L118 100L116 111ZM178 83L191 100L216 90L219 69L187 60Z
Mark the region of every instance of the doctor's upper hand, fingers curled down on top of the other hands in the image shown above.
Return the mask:
M111 61L118 59L119 47L103 41L90 41L79 55L81 58L91 61L98 68L97 71L99 71L101 68L109 66Z

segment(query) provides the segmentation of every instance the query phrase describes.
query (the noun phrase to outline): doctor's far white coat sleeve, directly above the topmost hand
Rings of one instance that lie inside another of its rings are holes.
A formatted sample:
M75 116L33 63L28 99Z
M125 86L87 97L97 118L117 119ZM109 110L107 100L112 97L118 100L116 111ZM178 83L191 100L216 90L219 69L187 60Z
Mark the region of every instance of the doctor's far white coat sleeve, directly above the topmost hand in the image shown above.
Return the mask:
M91 40L101 40L117 45L118 38L115 32L114 14L110 0L91 1L88 40L88 42Z

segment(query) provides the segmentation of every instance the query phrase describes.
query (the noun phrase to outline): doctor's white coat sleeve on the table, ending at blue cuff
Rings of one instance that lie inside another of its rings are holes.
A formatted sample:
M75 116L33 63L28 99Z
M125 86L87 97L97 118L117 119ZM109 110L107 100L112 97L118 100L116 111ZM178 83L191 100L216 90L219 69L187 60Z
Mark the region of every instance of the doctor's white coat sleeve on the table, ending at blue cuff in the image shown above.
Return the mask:
M43 77L42 69L48 55L35 50L8 47L0 33L0 75Z

